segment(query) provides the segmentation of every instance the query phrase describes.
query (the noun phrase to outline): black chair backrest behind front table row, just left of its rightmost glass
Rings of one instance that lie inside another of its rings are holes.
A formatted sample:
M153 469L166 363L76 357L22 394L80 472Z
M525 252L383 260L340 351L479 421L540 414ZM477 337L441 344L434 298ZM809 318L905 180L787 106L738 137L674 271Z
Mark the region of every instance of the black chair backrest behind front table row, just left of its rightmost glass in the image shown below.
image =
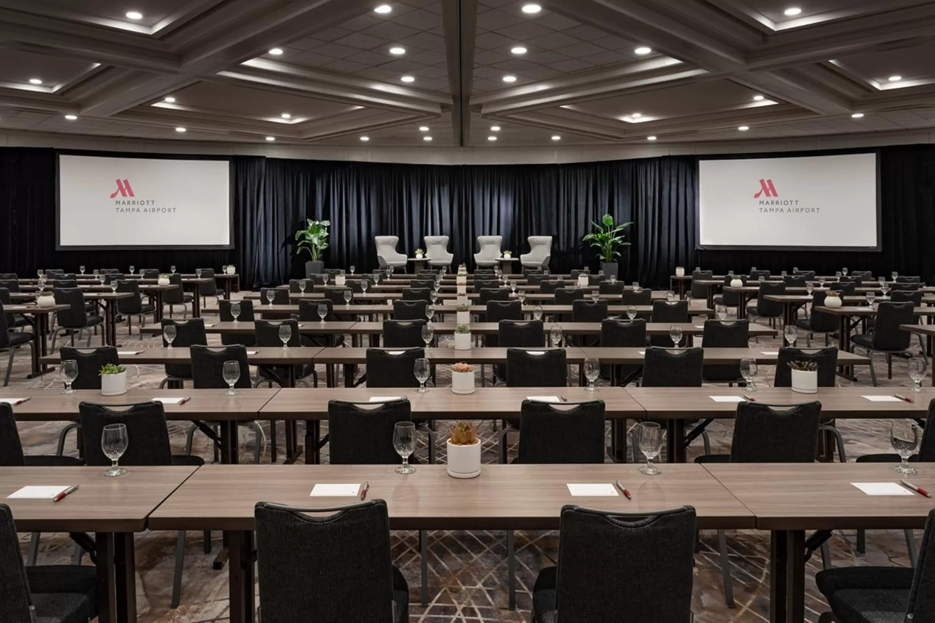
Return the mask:
M821 403L737 404L732 463L811 463L818 449Z

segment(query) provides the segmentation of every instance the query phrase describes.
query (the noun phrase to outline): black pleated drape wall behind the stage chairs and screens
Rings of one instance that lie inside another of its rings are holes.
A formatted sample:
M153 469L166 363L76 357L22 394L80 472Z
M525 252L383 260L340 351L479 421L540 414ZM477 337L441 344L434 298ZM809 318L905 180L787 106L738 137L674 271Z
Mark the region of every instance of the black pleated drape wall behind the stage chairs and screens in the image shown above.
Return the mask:
M874 274L898 270L931 276L935 258L935 147L881 151L883 250L697 251L696 157L665 157L554 165L446 166L282 160L231 160L234 248L230 250L55 250L55 152L0 149L0 272L36 268L77 270L79 264L124 269L130 264L180 271L235 263L244 287L283 283L303 274L295 230L305 219L331 221L326 265L358 272L377 265L373 236L396 234L412 254L423 236L447 234L455 262L473 266L476 238L503 236L518 257L528 235L554 236L552 268L597 267L581 238L590 221L610 213L630 220L631 247L621 259L624 278L662 287L677 265L717 273L809 267L830 272L846 265ZM101 223L106 227L107 223ZM829 238L840 232L827 232ZM115 241L119 242L119 241ZM755 243L755 241L751 241Z

